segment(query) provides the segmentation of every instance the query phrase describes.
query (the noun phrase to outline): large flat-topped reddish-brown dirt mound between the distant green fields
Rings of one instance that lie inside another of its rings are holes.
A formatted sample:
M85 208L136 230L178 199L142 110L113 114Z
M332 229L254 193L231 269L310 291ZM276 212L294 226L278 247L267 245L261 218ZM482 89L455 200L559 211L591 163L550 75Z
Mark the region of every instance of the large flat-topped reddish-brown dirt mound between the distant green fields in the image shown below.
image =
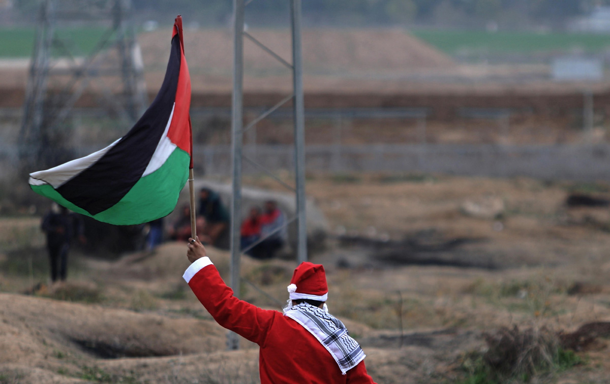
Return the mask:
M288 30L254 29L248 33L282 59L292 62ZM141 34L138 41L146 67L165 70L167 31ZM184 44L192 76L231 74L233 42L228 29L188 30ZM257 76L286 70L248 38L244 60L246 71ZM453 68L454 63L447 55L400 29L309 29L303 31L303 65L306 73L346 74Z

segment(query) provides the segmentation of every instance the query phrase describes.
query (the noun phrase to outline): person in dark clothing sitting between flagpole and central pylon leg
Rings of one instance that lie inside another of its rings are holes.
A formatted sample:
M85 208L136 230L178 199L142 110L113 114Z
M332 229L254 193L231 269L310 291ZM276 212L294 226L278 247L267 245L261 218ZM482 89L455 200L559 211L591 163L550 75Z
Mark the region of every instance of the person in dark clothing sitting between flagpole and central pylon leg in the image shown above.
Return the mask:
M199 219L203 220L199 238L204 243L215 245L229 229L229 211L218 193L210 188L201 188L199 192Z

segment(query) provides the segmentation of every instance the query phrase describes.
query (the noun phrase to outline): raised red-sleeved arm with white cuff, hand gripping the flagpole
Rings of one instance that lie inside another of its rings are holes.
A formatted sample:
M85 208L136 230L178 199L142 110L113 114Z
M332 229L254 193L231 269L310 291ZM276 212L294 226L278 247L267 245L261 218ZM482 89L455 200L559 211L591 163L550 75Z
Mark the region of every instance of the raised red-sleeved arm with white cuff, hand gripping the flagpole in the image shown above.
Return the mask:
M275 316L281 316L281 313L263 310L237 299L206 256L203 244L199 240L188 241L187 257L192 264L182 277L195 296L218 324L262 346L273 319Z

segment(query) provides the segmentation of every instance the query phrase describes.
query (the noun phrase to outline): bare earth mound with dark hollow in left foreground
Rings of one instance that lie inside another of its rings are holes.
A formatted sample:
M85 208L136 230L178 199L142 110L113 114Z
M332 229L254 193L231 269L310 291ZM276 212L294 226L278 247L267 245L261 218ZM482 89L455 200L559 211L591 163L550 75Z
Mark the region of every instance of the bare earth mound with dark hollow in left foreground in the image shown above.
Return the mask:
M0 294L0 307L0 361L7 363L38 360L49 347L118 358L194 354L224 346L224 332L212 321L13 294Z

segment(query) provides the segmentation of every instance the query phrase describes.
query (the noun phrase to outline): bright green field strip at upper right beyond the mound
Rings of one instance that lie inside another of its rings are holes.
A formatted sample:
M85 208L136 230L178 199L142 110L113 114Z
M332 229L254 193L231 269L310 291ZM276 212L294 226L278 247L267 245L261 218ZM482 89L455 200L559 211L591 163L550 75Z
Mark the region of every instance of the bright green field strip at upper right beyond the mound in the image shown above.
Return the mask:
M411 33L450 55L460 52L569 52L575 48L596 52L610 48L610 36L600 34L449 30L413 30Z

